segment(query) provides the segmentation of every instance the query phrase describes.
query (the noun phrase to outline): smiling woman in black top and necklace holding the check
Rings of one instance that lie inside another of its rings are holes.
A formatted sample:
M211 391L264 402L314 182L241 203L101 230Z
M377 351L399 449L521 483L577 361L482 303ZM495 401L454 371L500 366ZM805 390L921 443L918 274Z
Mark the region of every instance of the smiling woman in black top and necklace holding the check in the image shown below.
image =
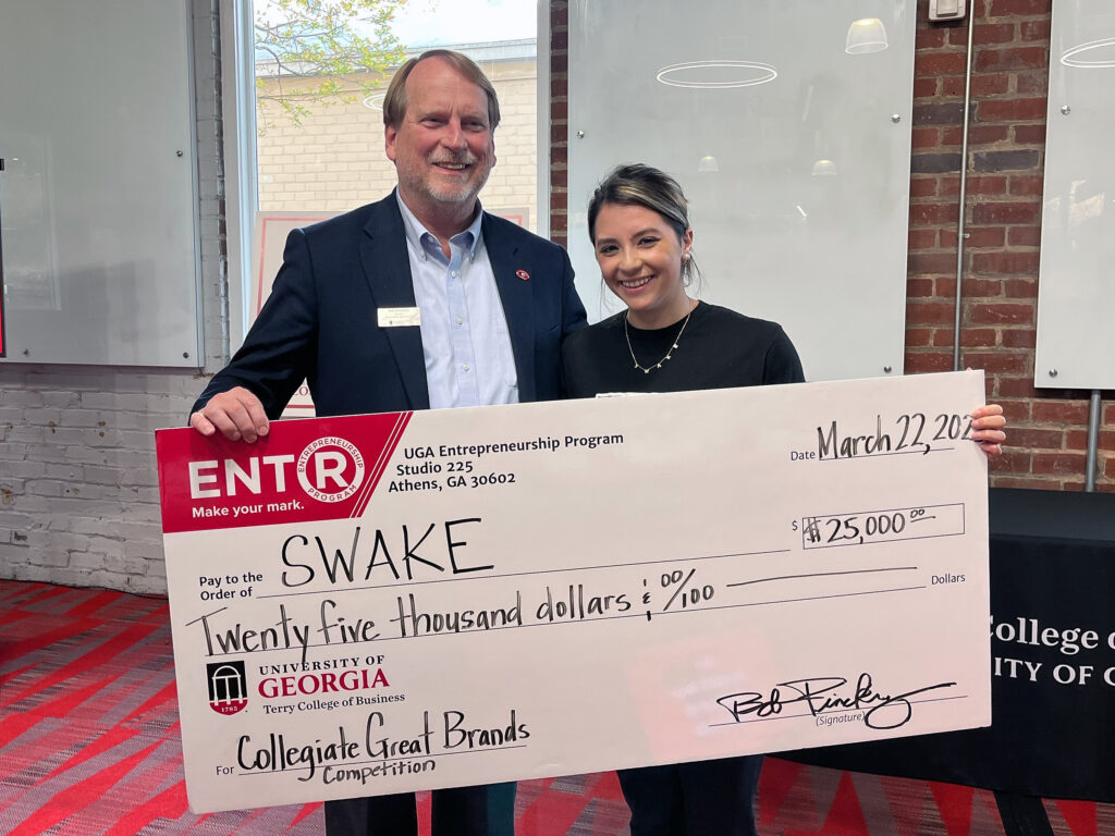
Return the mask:
M569 397L805 379L780 325L688 294L697 272L694 232L669 175L646 165L615 168L589 203L589 235L604 283L627 310L566 338ZM1002 408L980 407L972 418L972 438L998 455ZM762 766L759 755L620 770L631 836L753 836Z

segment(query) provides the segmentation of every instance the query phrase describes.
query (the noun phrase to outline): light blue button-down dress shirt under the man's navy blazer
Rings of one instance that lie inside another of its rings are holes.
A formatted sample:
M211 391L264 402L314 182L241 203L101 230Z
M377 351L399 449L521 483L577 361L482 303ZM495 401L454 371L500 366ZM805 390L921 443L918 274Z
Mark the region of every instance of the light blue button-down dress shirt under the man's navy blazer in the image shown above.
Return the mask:
M507 319L481 234L483 210L449 239L437 237L396 193L407 237L430 409L517 404L518 377Z

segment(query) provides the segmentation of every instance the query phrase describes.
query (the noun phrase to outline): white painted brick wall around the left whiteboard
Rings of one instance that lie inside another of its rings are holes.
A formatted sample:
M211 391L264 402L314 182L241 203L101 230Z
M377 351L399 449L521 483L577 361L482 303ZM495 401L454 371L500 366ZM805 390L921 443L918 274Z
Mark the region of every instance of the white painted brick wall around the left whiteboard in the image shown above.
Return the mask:
M220 41L191 0L197 97L206 368L220 368L224 279ZM0 577L166 592L155 473L159 427L180 427L197 373L0 364Z

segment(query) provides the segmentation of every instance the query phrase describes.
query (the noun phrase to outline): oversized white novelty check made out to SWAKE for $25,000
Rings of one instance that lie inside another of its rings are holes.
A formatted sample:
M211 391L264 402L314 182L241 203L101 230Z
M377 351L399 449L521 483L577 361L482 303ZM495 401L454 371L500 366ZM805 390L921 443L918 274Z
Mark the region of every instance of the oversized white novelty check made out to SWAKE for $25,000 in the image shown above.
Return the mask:
M158 434L195 811L990 722L979 372Z

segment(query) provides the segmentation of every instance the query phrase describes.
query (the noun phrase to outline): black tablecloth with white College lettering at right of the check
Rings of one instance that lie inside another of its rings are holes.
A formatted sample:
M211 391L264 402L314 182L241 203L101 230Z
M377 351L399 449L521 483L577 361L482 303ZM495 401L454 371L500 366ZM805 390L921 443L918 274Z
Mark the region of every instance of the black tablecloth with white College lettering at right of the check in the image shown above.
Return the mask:
M997 493L991 727L780 757L1043 798L1115 801L1115 537L1107 539L1106 531L1115 526L1115 496Z

